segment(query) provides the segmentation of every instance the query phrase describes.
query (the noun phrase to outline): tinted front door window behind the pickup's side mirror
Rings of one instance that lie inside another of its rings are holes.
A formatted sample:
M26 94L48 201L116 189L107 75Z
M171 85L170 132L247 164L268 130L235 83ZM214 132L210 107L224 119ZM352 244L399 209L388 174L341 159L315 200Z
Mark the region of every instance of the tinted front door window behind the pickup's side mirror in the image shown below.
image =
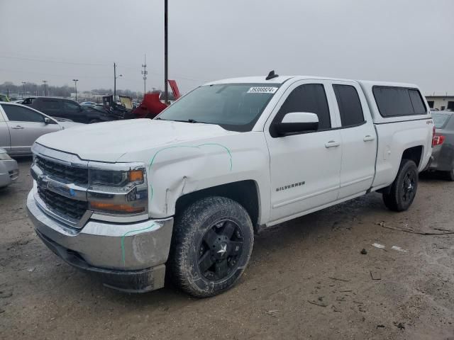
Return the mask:
M284 101L275 119L280 122L284 115L291 112L316 113L319 116L319 130L331 128L328 101L322 84L298 86Z

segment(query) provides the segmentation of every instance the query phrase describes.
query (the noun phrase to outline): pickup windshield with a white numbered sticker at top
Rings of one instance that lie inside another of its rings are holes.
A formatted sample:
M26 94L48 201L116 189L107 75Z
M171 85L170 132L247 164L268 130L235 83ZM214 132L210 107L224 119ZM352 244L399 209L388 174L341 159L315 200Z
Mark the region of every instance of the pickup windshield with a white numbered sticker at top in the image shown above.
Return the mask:
M165 109L157 118L221 125L250 131L280 84L216 84L201 86Z

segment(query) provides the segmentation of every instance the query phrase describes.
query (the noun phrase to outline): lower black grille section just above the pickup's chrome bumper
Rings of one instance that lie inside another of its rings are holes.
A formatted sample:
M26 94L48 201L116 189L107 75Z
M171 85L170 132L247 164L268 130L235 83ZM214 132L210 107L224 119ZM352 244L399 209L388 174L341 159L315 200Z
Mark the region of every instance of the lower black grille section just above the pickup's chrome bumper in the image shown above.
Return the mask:
M88 209L88 202L72 200L39 186L38 195L52 212L62 217L70 217L72 220L80 220Z

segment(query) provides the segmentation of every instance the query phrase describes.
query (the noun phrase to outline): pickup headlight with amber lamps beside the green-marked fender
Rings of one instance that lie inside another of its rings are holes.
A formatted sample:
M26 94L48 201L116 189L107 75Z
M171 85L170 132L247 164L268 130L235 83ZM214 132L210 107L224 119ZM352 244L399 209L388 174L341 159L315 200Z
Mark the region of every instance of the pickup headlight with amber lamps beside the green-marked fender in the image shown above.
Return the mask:
M90 210L101 215L143 215L148 212L145 168L89 169Z

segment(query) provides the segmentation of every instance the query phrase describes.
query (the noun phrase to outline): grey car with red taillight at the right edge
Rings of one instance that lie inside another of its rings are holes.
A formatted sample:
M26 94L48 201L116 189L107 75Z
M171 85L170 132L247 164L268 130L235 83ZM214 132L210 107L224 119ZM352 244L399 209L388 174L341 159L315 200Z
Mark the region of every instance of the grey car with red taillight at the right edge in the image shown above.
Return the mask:
M454 181L454 112L432 111L435 135L429 167L432 171L445 172L447 179Z

